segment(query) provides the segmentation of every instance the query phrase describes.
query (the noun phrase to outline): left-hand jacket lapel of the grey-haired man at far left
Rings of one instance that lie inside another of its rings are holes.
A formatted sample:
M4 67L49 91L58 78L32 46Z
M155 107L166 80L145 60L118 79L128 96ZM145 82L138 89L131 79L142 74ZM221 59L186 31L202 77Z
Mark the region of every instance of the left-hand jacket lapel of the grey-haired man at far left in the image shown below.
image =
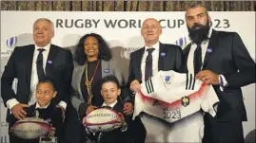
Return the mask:
M28 48L28 51L25 52L26 54L26 70L27 70L27 83L30 87L30 80L31 80L31 71L32 71L32 62L33 62L33 53L34 53L34 45L30 45L30 47Z

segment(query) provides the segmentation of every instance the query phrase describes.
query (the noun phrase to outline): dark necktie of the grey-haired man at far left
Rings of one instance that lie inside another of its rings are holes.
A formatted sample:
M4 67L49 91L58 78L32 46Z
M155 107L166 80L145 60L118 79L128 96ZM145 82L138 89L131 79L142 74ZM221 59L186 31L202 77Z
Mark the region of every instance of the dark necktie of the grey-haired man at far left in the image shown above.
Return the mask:
M36 69L37 69L38 80L41 80L45 77L45 72L44 72L44 67L43 67L43 51L45 49L39 48L37 50L39 51L39 54L37 56Z

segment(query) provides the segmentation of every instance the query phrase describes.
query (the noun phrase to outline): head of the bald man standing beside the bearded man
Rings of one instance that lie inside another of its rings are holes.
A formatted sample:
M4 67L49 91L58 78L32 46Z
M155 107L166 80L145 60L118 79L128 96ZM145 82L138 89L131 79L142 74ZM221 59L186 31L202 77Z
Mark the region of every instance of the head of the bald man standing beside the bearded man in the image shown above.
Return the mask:
M159 41L159 36L162 34L162 27L156 19L148 18L144 21L141 35L145 40L146 45L154 45Z

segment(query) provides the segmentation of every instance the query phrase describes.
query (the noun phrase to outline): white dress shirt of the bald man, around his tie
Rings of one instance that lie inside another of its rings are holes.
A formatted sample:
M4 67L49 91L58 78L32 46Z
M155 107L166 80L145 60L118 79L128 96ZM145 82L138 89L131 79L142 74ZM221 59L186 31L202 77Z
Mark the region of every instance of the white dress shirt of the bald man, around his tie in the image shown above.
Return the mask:
M159 60L159 47L160 44L157 42L155 45L152 45L148 47L145 45L145 51L142 57L142 63L141 63L141 72L142 72L142 81L145 81L145 68L146 68L146 60L148 57L148 48L155 48L152 52L152 76L154 76L158 72L158 60Z

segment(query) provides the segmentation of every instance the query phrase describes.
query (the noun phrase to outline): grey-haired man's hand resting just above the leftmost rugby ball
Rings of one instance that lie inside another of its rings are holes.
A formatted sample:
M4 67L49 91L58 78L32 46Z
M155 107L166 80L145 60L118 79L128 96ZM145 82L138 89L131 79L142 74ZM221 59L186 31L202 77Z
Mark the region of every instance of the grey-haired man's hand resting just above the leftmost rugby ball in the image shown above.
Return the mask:
M30 107L28 104L18 103L14 105L10 111L17 119L22 119L27 116L27 113L25 110L23 110L24 107Z

